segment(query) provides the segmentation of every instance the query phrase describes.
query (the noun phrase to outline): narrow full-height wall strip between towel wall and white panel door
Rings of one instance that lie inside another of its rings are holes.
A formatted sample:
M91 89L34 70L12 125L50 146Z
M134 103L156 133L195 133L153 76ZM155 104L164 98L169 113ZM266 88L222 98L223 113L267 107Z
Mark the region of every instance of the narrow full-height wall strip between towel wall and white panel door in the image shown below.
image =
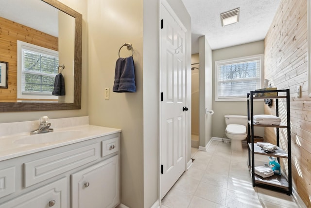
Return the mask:
M143 21L143 166L144 208L159 195L159 1L144 2ZM152 58L151 58L152 57Z

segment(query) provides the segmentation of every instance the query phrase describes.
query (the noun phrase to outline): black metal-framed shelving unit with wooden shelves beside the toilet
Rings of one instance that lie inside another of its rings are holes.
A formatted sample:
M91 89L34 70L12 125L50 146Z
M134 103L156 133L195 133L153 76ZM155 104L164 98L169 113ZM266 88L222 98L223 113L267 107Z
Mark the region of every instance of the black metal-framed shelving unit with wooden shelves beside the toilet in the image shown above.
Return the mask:
M273 96L255 96L255 94L265 94L276 93ZM281 95L280 95L281 94ZM283 95L284 94L284 95ZM286 116L287 123L286 125L260 125L254 123L254 105L253 102L256 99L275 99L276 102L276 116L279 116L278 109L278 99L286 99ZM262 188L272 189L280 192L287 193L288 195L292 194L292 156L291 156L291 128L290 128L290 90L268 90L268 91L251 91L247 94L247 119L248 119L248 166L251 172L253 187L258 186ZM261 148L257 145L254 145L254 127L269 127L276 128L276 145L277 149L273 153L265 153L261 151ZM287 129L287 152L282 150L279 147L279 129ZM262 178L255 174L255 166L264 165L263 162L256 161L255 155L262 154L267 156L277 157L279 162L280 158L285 158L288 160L288 178L285 175L281 174L280 176L274 175L268 178Z

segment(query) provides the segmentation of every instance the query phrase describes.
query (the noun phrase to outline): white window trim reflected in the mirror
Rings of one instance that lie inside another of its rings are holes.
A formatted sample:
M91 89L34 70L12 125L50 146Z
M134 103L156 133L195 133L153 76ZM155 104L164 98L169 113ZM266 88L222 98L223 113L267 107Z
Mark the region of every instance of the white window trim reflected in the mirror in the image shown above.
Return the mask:
M31 43L23 42L20 40L17 40L17 99L49 99L49 100L57 100L58 96L55 95L47 95L46 93L39 93L39 92L25 92L22 91L22 67L24 65L23 59L22 59L22 50L30 50L41 54L46 54L53 57L58 57L58 51L54 51L52 49L44 48L41 46L37 46Z

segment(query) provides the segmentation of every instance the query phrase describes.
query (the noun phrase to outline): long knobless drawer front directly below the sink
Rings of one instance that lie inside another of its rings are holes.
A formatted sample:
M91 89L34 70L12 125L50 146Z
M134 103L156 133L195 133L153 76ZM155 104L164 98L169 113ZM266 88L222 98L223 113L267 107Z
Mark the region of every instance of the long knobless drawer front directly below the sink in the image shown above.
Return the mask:
M55 154L24 163L25 187L72 170L99 158L99 144Z

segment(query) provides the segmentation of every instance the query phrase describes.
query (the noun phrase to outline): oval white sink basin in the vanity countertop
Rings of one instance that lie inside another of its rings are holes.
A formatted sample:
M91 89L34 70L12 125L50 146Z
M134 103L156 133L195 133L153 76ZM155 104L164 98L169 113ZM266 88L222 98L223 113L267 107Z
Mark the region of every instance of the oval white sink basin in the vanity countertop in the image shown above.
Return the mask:
M82 138L84 135L81 131L64 131L64 132L46 132L38 134L30 134L17 136L14 140L15 144L42 144L50 142L67 141L74 138Z

